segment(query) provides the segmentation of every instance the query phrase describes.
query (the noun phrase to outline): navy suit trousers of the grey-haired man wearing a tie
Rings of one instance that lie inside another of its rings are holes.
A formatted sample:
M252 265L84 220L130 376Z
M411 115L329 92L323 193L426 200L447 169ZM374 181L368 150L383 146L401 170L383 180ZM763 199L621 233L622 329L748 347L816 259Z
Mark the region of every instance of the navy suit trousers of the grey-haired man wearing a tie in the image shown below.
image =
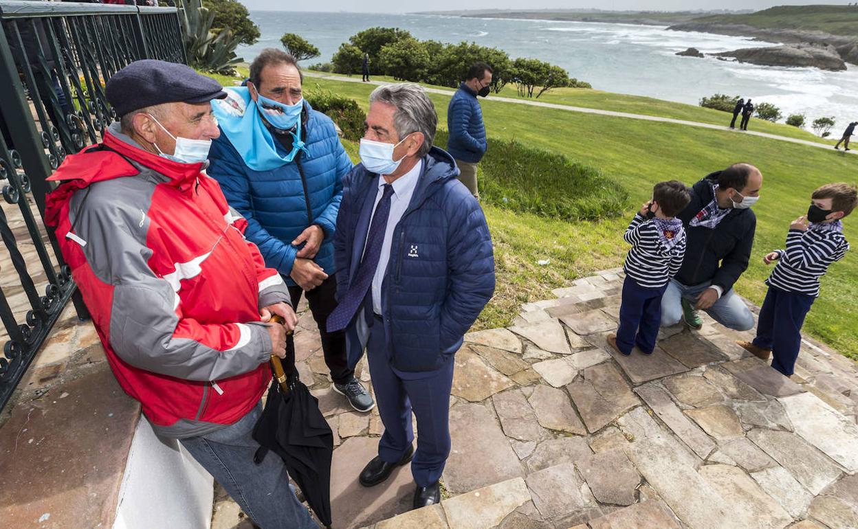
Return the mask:
M450 390L453 387L452 356L438 370L408 373L390 361L384 323L373 318L366 356L370 364L372 388L384 435L378 442L378 456L394 463L414 442L411 412L417 418L417 450L411 460L411 474L419 487L428 487L441 478L450 455Z

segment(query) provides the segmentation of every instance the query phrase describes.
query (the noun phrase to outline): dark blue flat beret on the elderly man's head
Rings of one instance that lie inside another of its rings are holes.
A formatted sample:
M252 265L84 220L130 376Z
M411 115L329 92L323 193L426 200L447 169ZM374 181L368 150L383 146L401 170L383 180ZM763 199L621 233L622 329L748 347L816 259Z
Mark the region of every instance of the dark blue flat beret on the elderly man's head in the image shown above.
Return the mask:
M105 87L107 101L119 117L163 103L206 103L223 99L221 83L189 66L143 59L115 73Z

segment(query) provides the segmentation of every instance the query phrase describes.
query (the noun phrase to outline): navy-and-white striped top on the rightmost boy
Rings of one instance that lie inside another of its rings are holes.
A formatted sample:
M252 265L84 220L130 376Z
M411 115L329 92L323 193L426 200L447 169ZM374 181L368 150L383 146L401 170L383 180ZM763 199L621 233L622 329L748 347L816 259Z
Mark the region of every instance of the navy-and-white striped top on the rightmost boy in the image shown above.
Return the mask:
M812 224L807 231L789 230L787 247L775 250L778 261L765 283L787 292L819 296L819 278L848 250L839 222Z

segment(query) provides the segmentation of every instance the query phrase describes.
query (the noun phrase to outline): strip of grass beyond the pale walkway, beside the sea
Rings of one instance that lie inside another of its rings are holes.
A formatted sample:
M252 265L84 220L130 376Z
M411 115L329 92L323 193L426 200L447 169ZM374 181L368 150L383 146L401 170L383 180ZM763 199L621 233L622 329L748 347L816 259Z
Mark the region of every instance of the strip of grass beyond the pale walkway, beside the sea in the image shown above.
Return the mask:
M372 80L394 82L392 77L384 75L374 75ZM318 81L317 78L306 79L308 86L312 86L316 81ZM454 90L450 87L433 88L450 91ZM732 114L729 114L728 112L716 111L711 108L703 108L702 106L686 105L685 103L676 103L674 101L665 101L663 99L654 99L639 95L628 95L625 93L602 92L601 90L591 90L588 88L554 88L553 90L543 93L539 99L531 99L519 96L516 87L506 86L500 93L492 93L492 95L487 99L492 99L493 96L540 101L543 103L552 103L554 105L569 105L605 111L628 112L630 114L642 114L644 116L670 117L672 119L709 123L713 125L722 125L724 127L730 124L730 119L733 117ZM736 123L738 122L739 120L736 121ZM757 118L753 118L751 120L750 129L767 134L787 136L789 138L797 138L806 141L816 141L832 146L835 143L835 141L820 138L806 129L791 127L784 123L770 123Z

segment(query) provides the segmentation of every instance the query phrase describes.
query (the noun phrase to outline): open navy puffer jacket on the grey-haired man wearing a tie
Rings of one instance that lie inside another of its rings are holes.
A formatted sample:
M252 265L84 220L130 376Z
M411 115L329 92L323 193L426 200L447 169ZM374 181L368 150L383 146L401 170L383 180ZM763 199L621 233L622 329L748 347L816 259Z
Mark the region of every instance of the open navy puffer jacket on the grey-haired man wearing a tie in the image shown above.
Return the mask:
M393 233L382 310L390 358L398 370L430 371L444 364L462 346L462 337L494 292L486 217L457 175L450 154L432 147ZM334 240L340 297L357 272L378 175L360 164L342 183ZM350 365L363 354L355 328L354 322L347 328Z

